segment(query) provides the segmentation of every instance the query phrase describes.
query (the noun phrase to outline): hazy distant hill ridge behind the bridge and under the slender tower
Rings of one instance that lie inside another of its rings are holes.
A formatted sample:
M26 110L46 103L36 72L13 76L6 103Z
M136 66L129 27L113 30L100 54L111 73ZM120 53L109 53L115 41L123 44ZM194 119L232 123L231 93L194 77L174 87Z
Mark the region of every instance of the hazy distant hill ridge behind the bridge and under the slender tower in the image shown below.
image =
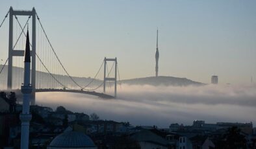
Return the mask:
M0 68L2 67L2 65L0 65ZM5 86L6 85L6 80L7 80L7 66L5 67L5 69L3 69L3 72L1 74L0 77L0 86ZM23 80L23 68L19 68L19 67L13 67L13 75L14 77L17 77L17 79L14 79L14 84L13 87L20 87L21 82ZM36 71L36 76L39 76L39 78L41 78L42 80L44 80L44 83L41 84L42 86L40 87L49 87L49 84L51 84L51 82L47 82L47 80L49 80L49 78L51 78L51 76L48 73L44 73L44 72L38 72ZM68 76L62 76L62 75L53 75L55 76L55 78L58 78L58 80L70 80L68 78ZM92 81L92 78L85 78L85 77L75 77L73 76L73 79L78 82L79 84L81 84L81 86L85 86L86 84L88 84L89 82ZM99 84L102 83L103 80L94 80L94 82L92 84L90 84L90 87L94 87L94 86L99 86ZM193 80L189 80L187 78L177 78L177 77L173 77L173 76L151 76L151 77L146 77L146 78L133 78L133 79L129 79L129 80L122 80L121 81L122 84L129 84L129 85L151 85L151 86L160 86L160 85L164 85L164 86L199 86L199 85L203 85L200 82L195 82ZM66 86L75 86L73 83L71 83L70 81L65 83ZM113 86L114 84L109 84L107 83L107 86Z

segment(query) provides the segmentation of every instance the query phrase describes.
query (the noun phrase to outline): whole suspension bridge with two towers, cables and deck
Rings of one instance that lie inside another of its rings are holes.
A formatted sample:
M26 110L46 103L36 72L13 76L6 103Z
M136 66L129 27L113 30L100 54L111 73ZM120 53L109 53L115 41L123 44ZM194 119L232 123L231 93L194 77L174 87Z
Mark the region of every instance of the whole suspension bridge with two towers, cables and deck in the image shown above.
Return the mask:
M53 48L36 10L10 10L0 24L4 25L9 16L8 57L1 60L0 84L7 85L8 91L19 91L23 83L23 56L25 51L25 29L32 17L31 45L31 104L35 104L36 92L68 92L95 95L101 98L115 98L117 78L120 81L117 58L104 58L94 78L71 76ZM19 16L27 16L23 25ZM28 28L28 27L27 27ZM8 63L8 65L7 65ZM112 63L109 69L109 63ZM103 67L104 65L104 67ZM102 72L103 71L103 72ZM113 75L114 71L114 75ZM103 75L103 76L101 76ZM103 80L101 80L103 79ZM112 84L114 82L114 84ZM106 87L114 86L114 95L106 93ZM121 86L121 84L120 84ZM103 91L101 90L103 88ZM1 90L5 90L1 89Z

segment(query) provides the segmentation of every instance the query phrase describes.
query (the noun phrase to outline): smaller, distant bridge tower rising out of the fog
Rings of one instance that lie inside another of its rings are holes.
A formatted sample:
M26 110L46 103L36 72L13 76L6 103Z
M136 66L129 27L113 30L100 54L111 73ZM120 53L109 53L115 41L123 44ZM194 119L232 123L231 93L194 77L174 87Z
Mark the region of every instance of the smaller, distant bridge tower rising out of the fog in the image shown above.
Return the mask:
M108 61L113 61L115 65L115 71L114 71L114 78L110 78L109 75L106 76L106 66ZM104 58L104 82L103 82L103 92L105 93L106 91L106 82L107 81L114 81L114 97L116 98L116 76L117 76L117 65L118 65L118 60L117 58Z

